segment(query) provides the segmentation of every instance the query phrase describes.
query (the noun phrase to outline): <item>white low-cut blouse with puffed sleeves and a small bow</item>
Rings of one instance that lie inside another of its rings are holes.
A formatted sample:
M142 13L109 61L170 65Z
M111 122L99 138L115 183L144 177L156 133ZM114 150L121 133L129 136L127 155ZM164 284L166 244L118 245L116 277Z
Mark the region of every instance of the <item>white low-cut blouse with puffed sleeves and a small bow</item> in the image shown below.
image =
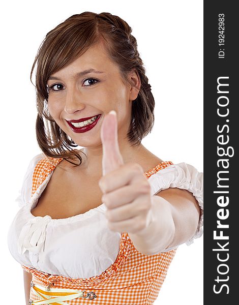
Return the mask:
M108 229L104 203L65 219L32 215L31 210L37 205L53 173L31 197L34 168L42 158L44 155L39 154L31 160L16 199L20 209L8 231L8 247L12 256L22 265L51 275L83 279L101 275L116 260L121 233ZM195 235L186 242L190 245L194 238L202 235L203 173L189 164L179 163L159 170L148 181L152 195L168 188L180 188L195 196L201 208L201 217Z

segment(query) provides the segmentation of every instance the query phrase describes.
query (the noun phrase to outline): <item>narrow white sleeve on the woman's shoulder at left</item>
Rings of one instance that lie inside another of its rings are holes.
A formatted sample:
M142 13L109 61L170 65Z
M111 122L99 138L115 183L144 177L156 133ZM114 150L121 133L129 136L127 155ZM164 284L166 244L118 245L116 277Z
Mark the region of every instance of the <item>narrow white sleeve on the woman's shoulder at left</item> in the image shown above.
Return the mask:
M25 172L22 187L18 191L19 195L16 198L16 202L19 207L24 206L31 199L32 195L32 186L33 186L33 172L34 168L37 165L38 161L44 158L44 154L38 154L30 161L27 170Z

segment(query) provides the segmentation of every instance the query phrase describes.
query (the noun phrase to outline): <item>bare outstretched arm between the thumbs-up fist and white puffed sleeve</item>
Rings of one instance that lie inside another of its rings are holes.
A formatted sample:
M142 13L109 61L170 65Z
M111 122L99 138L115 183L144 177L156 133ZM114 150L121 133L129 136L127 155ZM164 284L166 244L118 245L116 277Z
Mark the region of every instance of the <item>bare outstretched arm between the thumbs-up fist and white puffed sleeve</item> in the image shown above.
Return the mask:
M137 234L129 234L134 247L152 255L177 247L196 232L200 208L192 193L170 188L152 196L152 222Z

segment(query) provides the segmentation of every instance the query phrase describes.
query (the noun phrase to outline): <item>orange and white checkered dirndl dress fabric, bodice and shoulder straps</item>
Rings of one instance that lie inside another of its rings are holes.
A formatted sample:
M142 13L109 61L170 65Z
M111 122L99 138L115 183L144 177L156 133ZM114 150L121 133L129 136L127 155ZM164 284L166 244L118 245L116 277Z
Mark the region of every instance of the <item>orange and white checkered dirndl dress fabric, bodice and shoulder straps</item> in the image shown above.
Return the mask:
M62 158L44 158L37 163L33 174L32 195L62 160ZM145 172L144 175L149 178L152 174L172 164L170 161L162 162ZM52 300L50 302L52 304L151 305L158 297L175 251L174 249L156 255L144 255L138 252L129 235L123 232L115 262L99 276L74 279L50 275L24 265L22 268L31 272L33 276L30 293L30 300L33 304L41 304L44 301L40 300L46 299L44 294L41 298L34 292L34 288L40 286L43 289L48 288L52 295L54 295L54 288L75 289L83 292L82 296L68 301L53 302ZM39 288L37 289L39 290Z

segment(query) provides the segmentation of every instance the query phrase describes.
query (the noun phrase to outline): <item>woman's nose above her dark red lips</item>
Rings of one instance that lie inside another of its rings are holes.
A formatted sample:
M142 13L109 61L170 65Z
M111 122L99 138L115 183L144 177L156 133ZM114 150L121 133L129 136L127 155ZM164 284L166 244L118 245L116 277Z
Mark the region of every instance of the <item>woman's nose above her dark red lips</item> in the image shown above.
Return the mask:
M68 88L65 101L65 111L68 114L74 114L76 111L84 109L85 104L82 102L79 90L77 88Z

